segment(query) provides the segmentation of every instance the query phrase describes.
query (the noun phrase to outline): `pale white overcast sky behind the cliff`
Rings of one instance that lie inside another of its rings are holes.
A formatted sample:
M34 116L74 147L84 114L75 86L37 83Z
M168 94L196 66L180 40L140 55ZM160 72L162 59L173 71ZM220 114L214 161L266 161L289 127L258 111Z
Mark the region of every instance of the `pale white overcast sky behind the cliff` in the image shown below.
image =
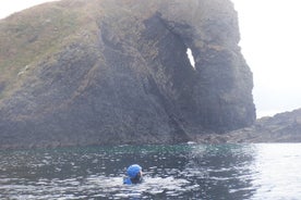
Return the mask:
M51 0L0 0L0 18ZM301 108L301 0L232 0L257 116Z

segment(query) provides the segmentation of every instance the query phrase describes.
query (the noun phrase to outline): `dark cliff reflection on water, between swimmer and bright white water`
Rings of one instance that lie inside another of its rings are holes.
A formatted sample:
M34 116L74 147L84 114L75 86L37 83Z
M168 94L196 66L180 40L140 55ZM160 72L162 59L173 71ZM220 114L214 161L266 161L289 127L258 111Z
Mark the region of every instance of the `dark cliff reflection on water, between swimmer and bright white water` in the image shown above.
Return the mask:
M254 191L249 167L254 152L249 145L196 146L185 171L197 178L204 199L248 199Z

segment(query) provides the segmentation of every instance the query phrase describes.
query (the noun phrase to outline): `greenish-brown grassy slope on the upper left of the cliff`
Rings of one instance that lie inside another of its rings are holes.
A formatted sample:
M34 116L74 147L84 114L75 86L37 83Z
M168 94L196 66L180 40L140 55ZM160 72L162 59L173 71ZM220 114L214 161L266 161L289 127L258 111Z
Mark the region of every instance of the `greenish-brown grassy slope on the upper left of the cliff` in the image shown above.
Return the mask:
M41 61L53 62L71 43L95 40L97 27L88 7L72 1L47 3L0 21L0 84L7 86L0 99L22 85L19 74L25 66L32 72Z

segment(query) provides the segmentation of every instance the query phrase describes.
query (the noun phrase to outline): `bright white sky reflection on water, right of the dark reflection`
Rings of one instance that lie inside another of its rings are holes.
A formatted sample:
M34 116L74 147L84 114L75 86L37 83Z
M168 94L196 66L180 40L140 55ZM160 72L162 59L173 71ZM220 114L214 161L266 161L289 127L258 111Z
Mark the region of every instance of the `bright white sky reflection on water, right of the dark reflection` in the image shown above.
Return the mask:
M264 143L256 146L252 200L301 198L301 145Z

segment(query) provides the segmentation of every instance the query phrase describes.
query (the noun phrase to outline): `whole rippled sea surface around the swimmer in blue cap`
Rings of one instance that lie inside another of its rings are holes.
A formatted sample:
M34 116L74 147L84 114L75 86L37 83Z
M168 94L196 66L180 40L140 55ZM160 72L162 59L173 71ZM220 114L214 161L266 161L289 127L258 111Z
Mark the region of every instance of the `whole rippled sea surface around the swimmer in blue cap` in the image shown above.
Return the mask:
M144 183L122 185L133 163ZM0 199L300 200L301 143L0 151Z

